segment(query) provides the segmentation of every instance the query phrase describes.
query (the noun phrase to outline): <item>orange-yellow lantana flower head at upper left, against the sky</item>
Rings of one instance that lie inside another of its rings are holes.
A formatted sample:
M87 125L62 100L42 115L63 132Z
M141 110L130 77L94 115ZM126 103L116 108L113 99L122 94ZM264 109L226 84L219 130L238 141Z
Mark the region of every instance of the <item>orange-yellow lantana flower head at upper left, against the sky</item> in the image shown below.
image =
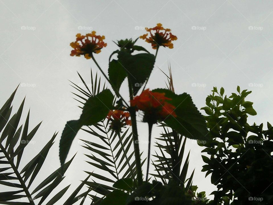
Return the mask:
M103 47L107 46L107 43L103 41L105 36L97 36L96 31L92 31L92 33L86 34L85 36L77 34L76 37L76 41L70 44L70 46L74 48L70 56L84 55L86 59L90 59L92 53L98 54Z

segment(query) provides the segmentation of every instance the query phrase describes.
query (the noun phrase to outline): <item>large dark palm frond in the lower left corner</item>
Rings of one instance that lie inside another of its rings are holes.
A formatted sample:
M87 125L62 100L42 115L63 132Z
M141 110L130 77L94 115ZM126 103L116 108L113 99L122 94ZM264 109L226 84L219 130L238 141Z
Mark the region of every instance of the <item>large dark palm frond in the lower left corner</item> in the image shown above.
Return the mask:
M17 112L11 116L13 109L11 104L17 89L18 87L0 109L0 184L1 186L5 186L6 190L8 188L12 190L0 193L0 204L40 205L43 204L45 200L49 200L47 205L55 204L62 198L69 186L56 193L51 199L49 198L49 195L64 179L60 174L61 168L66 171L74 157L65 163L63 167L59 167L51 173L51 175L37 187L31 186L44 165L47 154L54 144L57 133L54 133L43 149L21 168L21 159L26 158L24 157L24 149L29 144L32 144L32 139L37 133L41 122L32 130L29 130L30 111L28 111L24 124L19 126L25 99L22 101ZM32 144L32 146L34 146L34 144ZM30 189L33 191L30 192ZM17 200L17 202L11 202L11 200ZM22 202L23 200L26 202Z

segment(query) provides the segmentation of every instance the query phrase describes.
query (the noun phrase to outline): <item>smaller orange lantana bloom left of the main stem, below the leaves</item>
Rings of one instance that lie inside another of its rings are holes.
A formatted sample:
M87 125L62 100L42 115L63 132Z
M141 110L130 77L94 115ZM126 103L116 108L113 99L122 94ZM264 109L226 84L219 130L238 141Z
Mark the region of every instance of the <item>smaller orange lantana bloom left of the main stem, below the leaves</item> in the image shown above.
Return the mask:
M113 130L121 132L121 128L125 125L132 125L131 120L129 120L130 113L124 112L123 110L110 110L107 119L111 120L110 127Z

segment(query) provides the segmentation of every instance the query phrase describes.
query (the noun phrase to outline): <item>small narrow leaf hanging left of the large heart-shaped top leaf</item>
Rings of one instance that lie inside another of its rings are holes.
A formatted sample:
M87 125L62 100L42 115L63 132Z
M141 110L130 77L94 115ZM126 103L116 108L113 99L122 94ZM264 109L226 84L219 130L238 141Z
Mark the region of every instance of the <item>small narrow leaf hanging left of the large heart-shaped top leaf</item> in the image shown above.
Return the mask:
M112 88L119 97L119 88L127 76L125 68L117 60L112 60L109 63L108 75Z

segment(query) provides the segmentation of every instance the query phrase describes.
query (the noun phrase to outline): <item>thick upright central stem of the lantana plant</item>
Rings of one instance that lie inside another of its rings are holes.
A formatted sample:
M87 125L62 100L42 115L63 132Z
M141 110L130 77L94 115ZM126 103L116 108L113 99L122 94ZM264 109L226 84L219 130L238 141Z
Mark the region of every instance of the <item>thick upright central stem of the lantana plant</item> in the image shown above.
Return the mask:
M128 79L129 84L129 94L130 100L133 100L133 88L131 81ZM136 159L136 169L137 169L137 181L138 185L142 185L142 170L141 170L141 161L140 161L140 153L139 153L139 145L138 145L138 134L137 134L137 119L136 119L136 110L135 107L130 107L129 112L131 115L131 122L132 122L132 133L133 133L133 142L134 142L134 149L135 149L135 159Z

